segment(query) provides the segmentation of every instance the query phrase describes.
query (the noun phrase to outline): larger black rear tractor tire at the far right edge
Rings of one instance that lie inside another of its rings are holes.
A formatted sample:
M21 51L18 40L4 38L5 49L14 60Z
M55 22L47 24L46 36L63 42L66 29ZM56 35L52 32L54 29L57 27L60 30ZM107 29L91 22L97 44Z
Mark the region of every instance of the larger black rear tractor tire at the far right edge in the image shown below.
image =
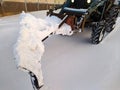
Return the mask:
M106 32L111 32L114 29L114 25L116 23L116 19L118 17L118 13L119 13L119 9L116 8L116 6L113 6L109 12L108 15L106 17L106 27L105 27L105 31Z

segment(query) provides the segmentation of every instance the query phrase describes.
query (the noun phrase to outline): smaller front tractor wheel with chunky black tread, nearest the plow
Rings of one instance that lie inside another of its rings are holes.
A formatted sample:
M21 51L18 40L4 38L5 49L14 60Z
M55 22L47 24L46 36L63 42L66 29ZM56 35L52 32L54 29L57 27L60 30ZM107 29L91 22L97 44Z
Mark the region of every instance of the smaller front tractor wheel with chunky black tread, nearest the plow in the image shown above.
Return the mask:
M104 24L101 23L103 22L96 23L92 27L91 42L93 44L99 44L103 40L105 34L105 27Z

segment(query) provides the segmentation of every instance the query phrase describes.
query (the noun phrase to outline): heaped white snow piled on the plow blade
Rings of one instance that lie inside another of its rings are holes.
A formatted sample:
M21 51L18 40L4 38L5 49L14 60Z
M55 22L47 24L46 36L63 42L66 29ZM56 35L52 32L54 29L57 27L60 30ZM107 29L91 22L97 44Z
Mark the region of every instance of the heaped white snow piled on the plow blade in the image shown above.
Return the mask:
M15 45L17 66L24 71L31 71L43 85L41 57L44 53L42 40L51 34L72 35L71 27L64 24L60 29L61 20L55 16L37 19L30 14L22 13L20 17L20 35Z

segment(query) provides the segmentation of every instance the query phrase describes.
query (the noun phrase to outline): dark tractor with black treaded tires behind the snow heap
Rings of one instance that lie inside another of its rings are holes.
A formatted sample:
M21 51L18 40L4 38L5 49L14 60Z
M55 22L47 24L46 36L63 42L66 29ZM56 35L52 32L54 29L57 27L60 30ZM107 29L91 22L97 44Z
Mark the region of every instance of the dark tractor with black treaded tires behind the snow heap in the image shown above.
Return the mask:
M67 0L63 5L56 6L47 12L49 16L57 16L62 22L71 26L73 32L83 32L84 27L91 26L90 41L99 44L105 32L114 29L116 18L119 14L119 4L115 0ZM59 13L56 10L61 9Z

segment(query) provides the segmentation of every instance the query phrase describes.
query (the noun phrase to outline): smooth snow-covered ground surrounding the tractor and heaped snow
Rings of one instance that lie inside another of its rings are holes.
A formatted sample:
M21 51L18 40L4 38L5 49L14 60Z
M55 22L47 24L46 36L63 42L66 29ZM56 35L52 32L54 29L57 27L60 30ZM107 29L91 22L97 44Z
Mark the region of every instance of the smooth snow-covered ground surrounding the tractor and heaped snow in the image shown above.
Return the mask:
M33 13L45 18L45 11ZM0 90L33 90L29 75L16 68L13 46L19 15L0 18ZM41 90L120 90L120 24L101 44L88 42L89 31L56 35L45 42Z

